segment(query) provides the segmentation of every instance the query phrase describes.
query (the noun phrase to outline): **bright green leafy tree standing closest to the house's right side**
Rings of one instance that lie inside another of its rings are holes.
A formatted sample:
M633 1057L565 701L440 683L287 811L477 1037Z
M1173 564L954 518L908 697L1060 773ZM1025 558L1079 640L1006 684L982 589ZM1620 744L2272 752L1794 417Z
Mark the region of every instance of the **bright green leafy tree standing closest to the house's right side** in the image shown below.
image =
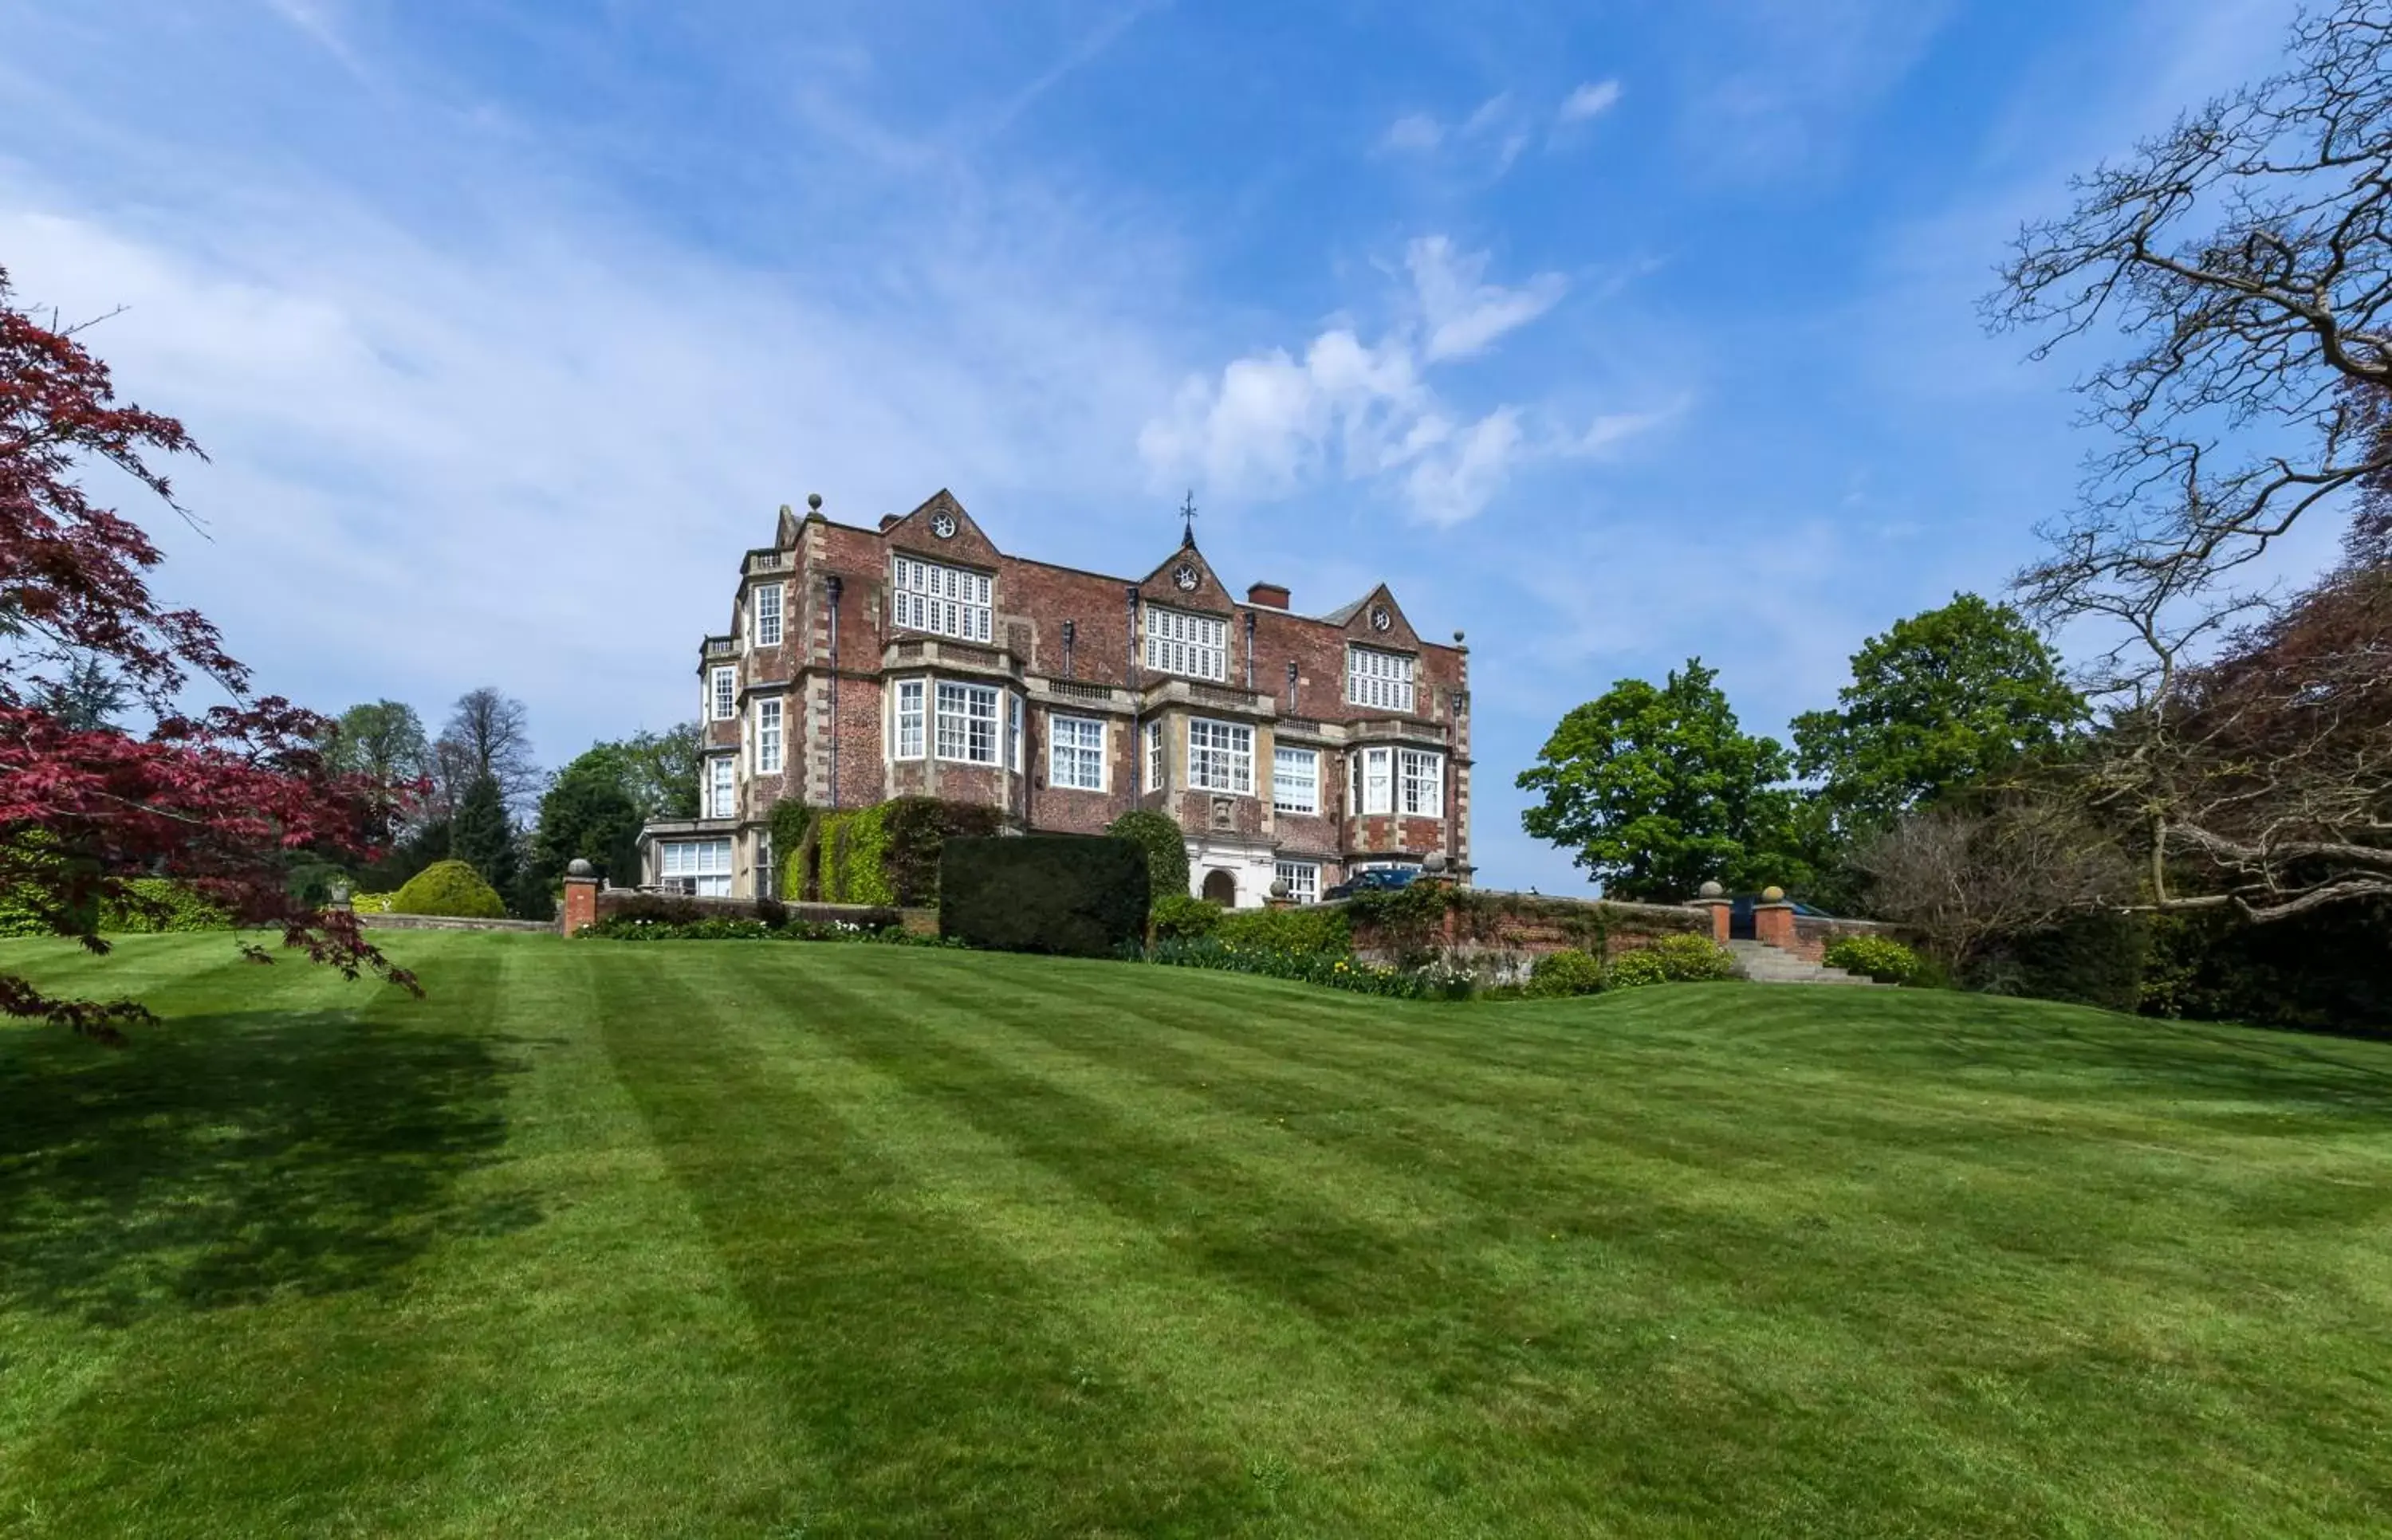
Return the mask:
M1777 739L1737 725L1717 672L1689 658L1662 686L1622 679L1579 705L1519 777L1543 803L1521 813L1538 839L1619 899L1686 899L1729 887L1801 882L1792 854L1794 794Z

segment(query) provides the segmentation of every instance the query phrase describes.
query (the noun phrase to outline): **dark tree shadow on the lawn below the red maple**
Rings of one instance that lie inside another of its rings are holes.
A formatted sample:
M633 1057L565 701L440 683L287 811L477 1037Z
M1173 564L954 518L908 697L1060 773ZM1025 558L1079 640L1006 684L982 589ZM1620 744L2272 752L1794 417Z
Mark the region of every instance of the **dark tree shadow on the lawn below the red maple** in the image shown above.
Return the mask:
M536 1222L464 1203L517 1064L488 1038L242 1012L122 1052L0 1038L0 1306L129 1322L364 1289Z

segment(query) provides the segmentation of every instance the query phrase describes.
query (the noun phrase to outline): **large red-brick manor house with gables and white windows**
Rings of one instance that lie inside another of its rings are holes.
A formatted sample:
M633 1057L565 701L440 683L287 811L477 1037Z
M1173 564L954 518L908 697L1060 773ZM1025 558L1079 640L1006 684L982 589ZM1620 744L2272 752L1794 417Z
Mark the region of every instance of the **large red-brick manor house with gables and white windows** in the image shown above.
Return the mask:
M1117 579L1000 552L950 493L878 528L820 502L780 509L698 648L703 818L641 830L646 885L773 894L775 801L909 794L1036 832L1160 808L1191 890L1239 906L1430 854L1469 880L1469 650L1385 583L1296 615L1277 583L1232 598L1194 538Z

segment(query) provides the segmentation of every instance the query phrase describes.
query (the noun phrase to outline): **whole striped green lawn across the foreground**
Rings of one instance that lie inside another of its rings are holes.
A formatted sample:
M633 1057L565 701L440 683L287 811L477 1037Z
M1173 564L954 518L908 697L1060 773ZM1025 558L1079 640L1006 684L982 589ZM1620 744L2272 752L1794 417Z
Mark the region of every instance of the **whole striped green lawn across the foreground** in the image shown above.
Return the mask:
M0 966L0 1535L2363 1535L2392 1045L1019 957Z

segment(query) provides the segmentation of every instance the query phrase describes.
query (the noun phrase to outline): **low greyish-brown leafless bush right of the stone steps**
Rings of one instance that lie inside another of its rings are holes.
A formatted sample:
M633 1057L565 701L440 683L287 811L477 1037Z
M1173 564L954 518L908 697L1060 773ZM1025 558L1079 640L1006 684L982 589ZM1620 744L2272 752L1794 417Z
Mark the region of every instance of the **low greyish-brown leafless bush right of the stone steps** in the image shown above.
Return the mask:
M1909 813L1859 854L1878 913L1954 971L2007 935L2134 897L2117 844L2067 799Z

